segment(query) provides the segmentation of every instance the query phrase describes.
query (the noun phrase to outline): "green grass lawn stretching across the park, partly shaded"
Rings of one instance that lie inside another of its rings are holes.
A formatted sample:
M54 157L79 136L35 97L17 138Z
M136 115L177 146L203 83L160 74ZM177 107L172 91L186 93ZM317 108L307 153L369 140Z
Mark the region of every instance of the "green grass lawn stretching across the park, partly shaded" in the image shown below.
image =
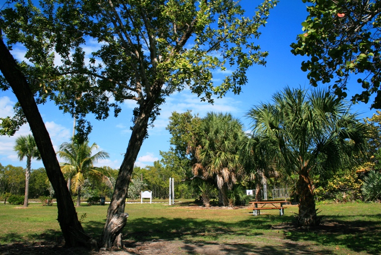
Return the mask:
M317 206L323 226L297 229L291 224L297 207L253 216L247 208L221 209L179 203L126 204L129 213L124 240L129 243L152 240L188 243L230 243L242 250L272 254L380 254L381 203L347 203ZM87 233L101 234L106 206L77 207ZM62 239L56 206L34 203L28 208L0 205L0 244Z

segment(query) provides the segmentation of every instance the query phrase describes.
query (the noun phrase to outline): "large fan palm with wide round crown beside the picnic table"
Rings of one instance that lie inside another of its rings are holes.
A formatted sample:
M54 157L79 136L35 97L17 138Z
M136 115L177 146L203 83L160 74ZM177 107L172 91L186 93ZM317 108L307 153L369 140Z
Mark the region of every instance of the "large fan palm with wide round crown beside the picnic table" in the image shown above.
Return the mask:
M273 100L273 104L263 103L248 113L253 132L278 169L299 175L298 224L318 225L310 175L355 163L355 153L364 151L365 125L349 112L347 103L325 90L308 95L305 90L287 87Z

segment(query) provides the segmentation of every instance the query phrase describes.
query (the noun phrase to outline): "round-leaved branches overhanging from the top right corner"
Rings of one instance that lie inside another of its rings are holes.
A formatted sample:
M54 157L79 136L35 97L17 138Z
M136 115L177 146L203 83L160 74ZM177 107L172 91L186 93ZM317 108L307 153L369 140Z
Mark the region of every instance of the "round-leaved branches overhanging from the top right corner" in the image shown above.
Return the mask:
M313 86L330 83L339 97L347 96L350 77L362 87L353 101L381 108L381 1L303 0L309 13L302 23L303 34L291 45L295 55L307 55L301 69L308 71Z

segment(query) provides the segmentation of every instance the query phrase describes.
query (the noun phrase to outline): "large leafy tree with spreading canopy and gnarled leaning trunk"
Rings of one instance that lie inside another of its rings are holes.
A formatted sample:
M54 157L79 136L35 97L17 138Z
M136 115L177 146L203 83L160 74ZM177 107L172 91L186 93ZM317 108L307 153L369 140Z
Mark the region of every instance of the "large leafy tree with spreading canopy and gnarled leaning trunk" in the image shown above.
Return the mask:
M39 7L16 1L2 11L0 26L9 49L22 43L34 64L19 66L38 102L50 97L75 116L77 134L85 138L91 130L87 113L102 119L112 107L117 114L118 103L136 102L102 246L122 245L124 201L133 165L165 97L184 88L209 102L229 90L240 93L247 69L265 64L267 52L252 39L259 37L258 29L275 2L265 0L253 18L232 0L42 1ZM92 40L99 47L86 52L86 43ZM227 68L234 71L214 84L213 70ZM4 119L3 127L14 130L22 123L22 114L17 117Z

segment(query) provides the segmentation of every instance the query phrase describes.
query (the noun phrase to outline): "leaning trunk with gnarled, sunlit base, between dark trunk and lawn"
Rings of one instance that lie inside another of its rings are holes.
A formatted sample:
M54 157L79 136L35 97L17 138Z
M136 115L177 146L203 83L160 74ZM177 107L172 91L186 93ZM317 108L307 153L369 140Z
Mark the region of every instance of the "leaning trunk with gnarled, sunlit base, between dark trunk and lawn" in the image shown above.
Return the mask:
M160 93L156 93L158 96ZM135 160L146 136L148 120L154 107L154 98L146 99L141 103L126 154L119 169L115 190L107 210L106 224L102 233L102 247L123 247L122 229L126 225L128 213L124 213L125 200L130 183Z

